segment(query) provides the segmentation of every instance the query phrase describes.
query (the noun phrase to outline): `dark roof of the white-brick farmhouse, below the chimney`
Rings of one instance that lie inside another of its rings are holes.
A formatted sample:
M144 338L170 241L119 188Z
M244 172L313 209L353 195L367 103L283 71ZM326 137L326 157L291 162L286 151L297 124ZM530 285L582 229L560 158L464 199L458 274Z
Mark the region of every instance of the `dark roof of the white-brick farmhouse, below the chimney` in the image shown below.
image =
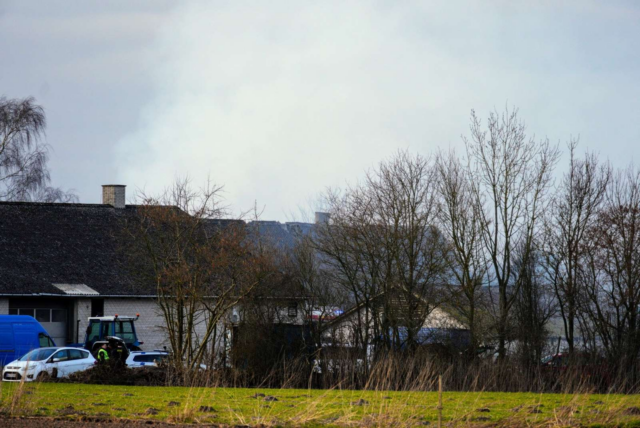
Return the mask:
M122 220L136 206L0 202L0 294L56 294L85 284L100 295L151 295L121 268Z

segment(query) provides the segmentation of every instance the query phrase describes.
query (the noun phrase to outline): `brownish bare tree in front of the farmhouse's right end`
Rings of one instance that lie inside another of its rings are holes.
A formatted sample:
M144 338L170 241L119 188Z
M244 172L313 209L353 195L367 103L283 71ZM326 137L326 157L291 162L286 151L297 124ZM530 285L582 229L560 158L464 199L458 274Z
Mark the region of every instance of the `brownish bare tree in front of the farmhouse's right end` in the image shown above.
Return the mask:
M179 367L194 369L215 353L222 321L256 285L261 266L244 222L221 219L220 189L195 191L185 179L158 197L142 194L125 228L131 268L156 284Z

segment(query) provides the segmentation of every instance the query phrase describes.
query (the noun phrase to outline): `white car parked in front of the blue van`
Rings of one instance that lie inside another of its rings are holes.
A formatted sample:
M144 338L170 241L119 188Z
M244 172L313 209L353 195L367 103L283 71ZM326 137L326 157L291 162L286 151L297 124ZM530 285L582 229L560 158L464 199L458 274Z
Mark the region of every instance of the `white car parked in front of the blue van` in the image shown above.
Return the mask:
M66 377L97 364L91 353L80 348L38 348L4 366L2 380L27 382L47 377Z

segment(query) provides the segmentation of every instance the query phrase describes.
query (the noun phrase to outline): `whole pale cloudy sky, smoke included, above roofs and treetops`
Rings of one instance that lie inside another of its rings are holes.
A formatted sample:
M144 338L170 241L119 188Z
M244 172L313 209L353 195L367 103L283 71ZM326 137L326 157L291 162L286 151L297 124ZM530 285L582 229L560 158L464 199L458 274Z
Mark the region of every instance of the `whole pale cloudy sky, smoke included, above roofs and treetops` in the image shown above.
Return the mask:
M188 176L307 220L398 150L463 151L472 109L637 163L638 22L635 1L0 0L0 95L45 108L81 202Z

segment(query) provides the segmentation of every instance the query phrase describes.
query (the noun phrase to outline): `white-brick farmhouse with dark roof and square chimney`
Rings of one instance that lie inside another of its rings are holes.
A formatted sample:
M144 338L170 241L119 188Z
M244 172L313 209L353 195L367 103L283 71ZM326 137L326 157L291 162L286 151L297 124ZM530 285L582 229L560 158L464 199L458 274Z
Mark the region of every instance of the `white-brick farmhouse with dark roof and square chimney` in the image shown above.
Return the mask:
M0 202L0 314L31 315L64 345L84 340L90 316L139 313L143 348L162 349L167 340L155 284L124 268L122 220L138 207L125 204L123 185L103 186L102 202ZM287 224L257 224L275 239L290 239ZM282 300L286 311L299 305ZM302 323L302 315L281 322Z

